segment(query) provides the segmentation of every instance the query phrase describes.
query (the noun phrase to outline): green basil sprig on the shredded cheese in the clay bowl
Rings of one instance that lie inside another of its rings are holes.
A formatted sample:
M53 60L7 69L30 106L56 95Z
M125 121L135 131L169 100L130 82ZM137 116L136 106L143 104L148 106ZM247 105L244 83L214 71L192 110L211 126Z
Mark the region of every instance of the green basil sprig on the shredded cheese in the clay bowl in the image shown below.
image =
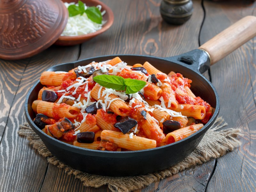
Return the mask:
M86 13L87 17L95 23L101 24L102 15L100 10L97 7L87 7L85 9L84 3L82 1L78 1L77 5L69 5L68 6L69 17L76 16L78 14L83 15Z

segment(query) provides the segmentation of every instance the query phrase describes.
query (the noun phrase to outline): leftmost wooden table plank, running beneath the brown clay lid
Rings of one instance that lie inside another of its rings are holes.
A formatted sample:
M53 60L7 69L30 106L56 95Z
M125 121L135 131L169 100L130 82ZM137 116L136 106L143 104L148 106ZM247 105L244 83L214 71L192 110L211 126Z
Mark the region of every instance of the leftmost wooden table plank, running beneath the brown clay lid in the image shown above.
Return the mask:
M32 150L26 138L17 134L19 125L26 122L24 116L25 97L44 70L52 65L77 60L78 54L79 46L52 46L27 60L0 61L0 66L6 69L4 73L7 76L6 81L1 79L1 83L6 84L1 87L1 97L11 99L8 102L4 100L4 103L7 102L11 109L0 144L0 191L38 191L40 189L47 161ZM17 71L13 72L15 68ZM12 80L12 76L17 77L17 80L15 78ZM17 83L19 81L20 83ZM12 97L8 91L13 92Z

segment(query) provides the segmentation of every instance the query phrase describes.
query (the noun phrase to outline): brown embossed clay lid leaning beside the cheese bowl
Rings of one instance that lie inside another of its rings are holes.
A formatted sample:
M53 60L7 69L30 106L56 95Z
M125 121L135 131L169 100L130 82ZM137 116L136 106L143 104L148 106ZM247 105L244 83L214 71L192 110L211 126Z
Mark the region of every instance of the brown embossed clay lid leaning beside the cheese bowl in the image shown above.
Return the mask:
M60 0L1 0L0 58L24 59L47 49L67 22Z

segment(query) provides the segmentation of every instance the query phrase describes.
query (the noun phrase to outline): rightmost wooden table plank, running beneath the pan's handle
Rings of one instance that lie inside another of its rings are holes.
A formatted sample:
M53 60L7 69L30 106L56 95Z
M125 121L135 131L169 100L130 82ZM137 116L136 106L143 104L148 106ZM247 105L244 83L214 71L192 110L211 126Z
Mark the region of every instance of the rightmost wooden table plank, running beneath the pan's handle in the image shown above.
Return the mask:
M247 15L256 14L256 2L204 1L206 18L200 36L204 43ZM211 67L212 83L220 96L220 116L229 127L240 127L240 148L218 159L207 191L255 191L256 39Z

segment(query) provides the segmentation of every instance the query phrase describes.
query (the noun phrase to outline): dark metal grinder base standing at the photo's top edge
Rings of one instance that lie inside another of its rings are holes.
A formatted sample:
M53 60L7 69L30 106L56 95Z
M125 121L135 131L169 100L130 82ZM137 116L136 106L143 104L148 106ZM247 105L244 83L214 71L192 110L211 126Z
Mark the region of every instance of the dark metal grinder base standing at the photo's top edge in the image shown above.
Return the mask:
M162 0L160 13L167 23L181 25L192 16L193 3L191 0Z

